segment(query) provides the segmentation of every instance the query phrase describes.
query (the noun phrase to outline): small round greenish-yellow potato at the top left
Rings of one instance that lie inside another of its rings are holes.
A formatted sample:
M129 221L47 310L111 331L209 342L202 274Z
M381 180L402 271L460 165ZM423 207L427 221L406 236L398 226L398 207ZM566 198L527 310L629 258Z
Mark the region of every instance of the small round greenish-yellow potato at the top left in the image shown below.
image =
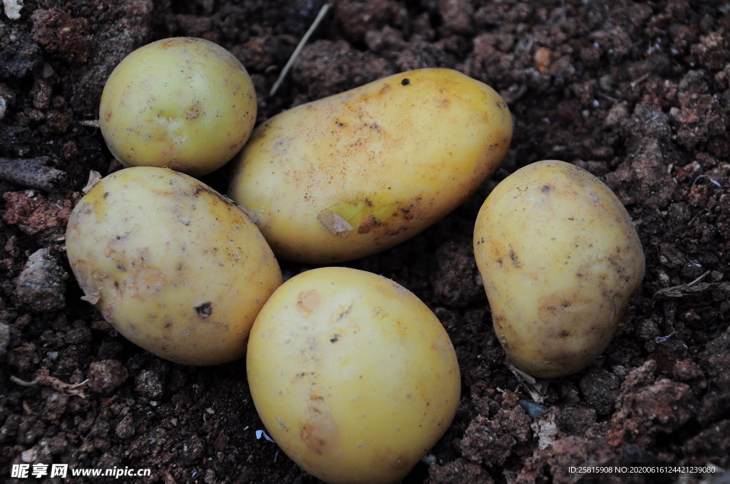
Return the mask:
M101 94L99 125L124 166L167 166L202 176L245 144L256 94L230 52L178 37L141 47L112 72Z

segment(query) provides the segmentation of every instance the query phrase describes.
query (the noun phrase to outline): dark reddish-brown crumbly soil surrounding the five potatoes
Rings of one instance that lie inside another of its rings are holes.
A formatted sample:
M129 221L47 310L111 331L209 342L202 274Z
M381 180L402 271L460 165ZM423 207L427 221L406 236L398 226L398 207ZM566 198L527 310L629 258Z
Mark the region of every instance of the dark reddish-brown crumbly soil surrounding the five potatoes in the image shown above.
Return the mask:
M26 0L19 20L0 17L0 157L47 156L70 179L64 192L0 182L0 480L18 482L12 464L66 463L152 469L118 482L317 482L256 439L264 427L245 362L158 359L81 301L69 276L65 225L89 171L120 169L89 122L104 82L137 47L183 35L218 42L244 63L258 122L431 66L488 83L510 106L510 152L472 198L411 241L347 264L415 292L461 363L461 404L432 450L435 464L418 464L404 483L568 483L580 477L569 467L581 464L730 469L730 4L334 0L269 97L322 3ZM623 332L590 367L551 381L537 406L503 364L471 240L493 187L544 159L605 180L634 220L647 270ZM225 180L225 170L204 178L218 190ZM285 278L312 268L280 263ZM704 273L707 285L655 297Z

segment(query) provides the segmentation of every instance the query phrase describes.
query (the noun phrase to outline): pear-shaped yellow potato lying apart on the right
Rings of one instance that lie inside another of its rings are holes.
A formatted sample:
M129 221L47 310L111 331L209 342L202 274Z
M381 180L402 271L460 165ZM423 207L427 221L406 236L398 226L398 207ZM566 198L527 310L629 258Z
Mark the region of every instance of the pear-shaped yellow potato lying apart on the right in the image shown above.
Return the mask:
M591 173L561 161L528 165L491 192L474 249L504 351L539 378L591 364L623 328L644 278L626 208Z

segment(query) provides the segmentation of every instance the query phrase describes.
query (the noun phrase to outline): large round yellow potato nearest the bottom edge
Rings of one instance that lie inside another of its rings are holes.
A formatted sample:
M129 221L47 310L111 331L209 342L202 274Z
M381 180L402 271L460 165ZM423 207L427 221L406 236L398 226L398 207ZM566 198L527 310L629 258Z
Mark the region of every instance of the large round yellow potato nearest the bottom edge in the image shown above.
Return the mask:
M286 281L246 356L280 448L326 483L395 483L446 432L461 380L439 320L402 286L347 268Z

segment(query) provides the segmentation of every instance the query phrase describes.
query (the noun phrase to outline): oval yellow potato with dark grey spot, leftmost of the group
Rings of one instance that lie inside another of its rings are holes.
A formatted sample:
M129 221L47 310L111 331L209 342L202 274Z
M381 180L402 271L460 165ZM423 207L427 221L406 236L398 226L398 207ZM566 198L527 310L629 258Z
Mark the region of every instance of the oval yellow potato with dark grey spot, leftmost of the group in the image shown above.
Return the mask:
M233 204L190 176L128 168L102 179L66 229L74 275L132 343L182 364L245 355L282 283L274 254Z

